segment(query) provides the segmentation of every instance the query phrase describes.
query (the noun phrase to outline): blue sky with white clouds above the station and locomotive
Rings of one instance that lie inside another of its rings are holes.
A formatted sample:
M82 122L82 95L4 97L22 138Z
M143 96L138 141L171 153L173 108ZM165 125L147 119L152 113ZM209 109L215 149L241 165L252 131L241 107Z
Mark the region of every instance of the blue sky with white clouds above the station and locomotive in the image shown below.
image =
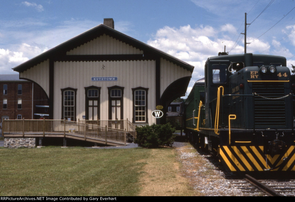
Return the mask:
M11 68L113 18L119 32L194 65L190 91L224 45L229 54L244 52L245 12L247 53L295 64L294 8L293 0L2 1L0 71L17 73Z

